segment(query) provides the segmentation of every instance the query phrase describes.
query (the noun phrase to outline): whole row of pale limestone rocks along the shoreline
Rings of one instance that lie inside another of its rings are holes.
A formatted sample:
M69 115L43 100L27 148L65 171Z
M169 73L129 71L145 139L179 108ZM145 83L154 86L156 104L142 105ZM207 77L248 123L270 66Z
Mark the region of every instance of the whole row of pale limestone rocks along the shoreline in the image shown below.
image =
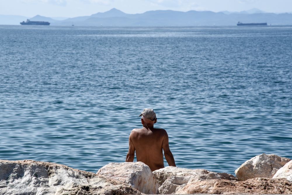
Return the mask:
M41 161L0 160L0 194L292 194L292 161L261 154L243 163L236 177L205 169L142 162L109 163L96 174Z

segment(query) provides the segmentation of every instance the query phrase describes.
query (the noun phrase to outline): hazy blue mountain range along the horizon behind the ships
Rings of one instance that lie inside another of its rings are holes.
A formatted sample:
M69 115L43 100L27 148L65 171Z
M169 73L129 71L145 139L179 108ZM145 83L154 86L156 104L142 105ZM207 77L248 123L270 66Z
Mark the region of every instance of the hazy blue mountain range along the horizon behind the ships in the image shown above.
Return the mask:
M20 25L24 16L0 15L2 25ZM104 13L75 18L48 18L36 15L31 21L46 21L52 26L234 26L237 22L267 22L268 25L292 25L292 13L265 13L259 9L241 12L157 10L127 14L115 8Z

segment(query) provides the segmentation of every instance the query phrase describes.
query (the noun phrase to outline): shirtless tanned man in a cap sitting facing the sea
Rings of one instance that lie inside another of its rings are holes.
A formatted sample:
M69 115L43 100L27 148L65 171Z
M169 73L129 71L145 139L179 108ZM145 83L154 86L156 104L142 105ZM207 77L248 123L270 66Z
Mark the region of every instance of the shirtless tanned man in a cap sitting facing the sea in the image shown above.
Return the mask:
M140 116L142 116L143 128L132 130L129 137L129 152L126 162L134 161L136 151L137 161L145 163L152 171L164 168L163 149L168 165L175 167L166 130L153 127L154 123L157 122L153 109L145 108Z

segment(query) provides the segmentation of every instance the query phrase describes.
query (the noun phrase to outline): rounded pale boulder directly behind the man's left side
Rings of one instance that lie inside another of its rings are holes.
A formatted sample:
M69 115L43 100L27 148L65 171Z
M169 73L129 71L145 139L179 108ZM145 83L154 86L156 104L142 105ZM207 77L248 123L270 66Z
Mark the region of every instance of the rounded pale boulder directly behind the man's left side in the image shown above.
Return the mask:
M159 184L151 169L142 162L109 163L98 175L124 182L145 194L157 194Z

